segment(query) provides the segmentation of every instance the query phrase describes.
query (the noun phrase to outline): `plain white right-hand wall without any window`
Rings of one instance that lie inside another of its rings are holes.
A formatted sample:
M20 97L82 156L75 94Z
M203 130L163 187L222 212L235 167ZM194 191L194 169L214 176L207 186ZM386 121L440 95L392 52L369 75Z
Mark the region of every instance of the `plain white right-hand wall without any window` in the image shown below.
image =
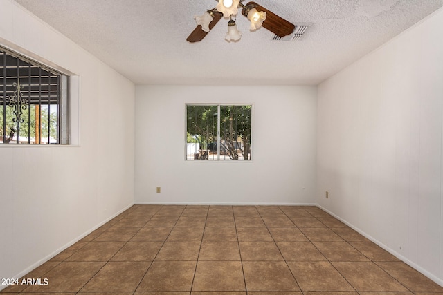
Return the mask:
M439 10L320 84L316 196L443 285L442 36Z

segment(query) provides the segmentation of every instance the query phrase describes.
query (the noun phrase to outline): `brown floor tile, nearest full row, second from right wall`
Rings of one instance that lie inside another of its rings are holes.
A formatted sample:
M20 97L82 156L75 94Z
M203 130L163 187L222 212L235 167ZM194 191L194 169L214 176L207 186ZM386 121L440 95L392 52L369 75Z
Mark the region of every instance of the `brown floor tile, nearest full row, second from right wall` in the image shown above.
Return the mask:
M395 278L372 262L332 262L358 292L407 292Z

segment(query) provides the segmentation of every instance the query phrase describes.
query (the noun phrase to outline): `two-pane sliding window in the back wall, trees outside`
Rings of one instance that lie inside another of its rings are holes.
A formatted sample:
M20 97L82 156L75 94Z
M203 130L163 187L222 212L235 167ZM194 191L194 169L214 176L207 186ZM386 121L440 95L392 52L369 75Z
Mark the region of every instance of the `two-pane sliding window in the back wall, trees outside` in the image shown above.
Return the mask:
M186 105L186 160L251 160L252 106Z

